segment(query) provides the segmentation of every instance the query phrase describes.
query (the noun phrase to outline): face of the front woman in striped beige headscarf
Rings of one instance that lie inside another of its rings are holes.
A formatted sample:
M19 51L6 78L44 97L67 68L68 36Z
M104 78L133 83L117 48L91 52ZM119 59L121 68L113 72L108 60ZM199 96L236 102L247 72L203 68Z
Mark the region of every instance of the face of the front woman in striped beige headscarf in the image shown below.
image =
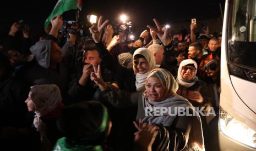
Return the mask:
M165 89L159 78L149 78L146 83L146 94L151 101L161 101L164 98Z

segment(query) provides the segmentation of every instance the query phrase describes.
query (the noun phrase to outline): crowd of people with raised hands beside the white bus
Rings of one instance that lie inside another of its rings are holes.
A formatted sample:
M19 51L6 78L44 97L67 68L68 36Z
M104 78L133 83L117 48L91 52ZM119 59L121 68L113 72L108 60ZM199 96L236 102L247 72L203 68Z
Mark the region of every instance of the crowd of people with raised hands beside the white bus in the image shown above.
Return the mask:
M1 40L0 150L217 150L221 34L191 23L177 40L153 20L135 40L102 16L87 37L72 25L64 38L60 15L37 40L15 22ZM196 114L161 109L179 107Z

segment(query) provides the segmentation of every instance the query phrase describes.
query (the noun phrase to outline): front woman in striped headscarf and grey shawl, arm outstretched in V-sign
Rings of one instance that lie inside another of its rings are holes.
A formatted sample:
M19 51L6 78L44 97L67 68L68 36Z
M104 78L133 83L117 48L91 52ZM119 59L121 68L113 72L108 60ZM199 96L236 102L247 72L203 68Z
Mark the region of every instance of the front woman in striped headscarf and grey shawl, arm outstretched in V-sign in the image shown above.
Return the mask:
M139 131L149 131L148 126L143 126L146 123L159 126L152 150L204 150L200 116L186 98L176 94L178 83L166 69L156 68L149 73L145 80L144 92L121 91L115 86L105 83L97 71L91 74L91 80L99 85L104 97L113 106L137 107L136 120L143 119L142 123L139 122L140 126L135 124ZM153 116L154 112L151 111L154 109L159 111L161 107L171 110ZM191 114L190 116L186 114L179 116L177 112L173 113L173 111L177 111L177 107L188 109L189 113L193 112L193 116Z

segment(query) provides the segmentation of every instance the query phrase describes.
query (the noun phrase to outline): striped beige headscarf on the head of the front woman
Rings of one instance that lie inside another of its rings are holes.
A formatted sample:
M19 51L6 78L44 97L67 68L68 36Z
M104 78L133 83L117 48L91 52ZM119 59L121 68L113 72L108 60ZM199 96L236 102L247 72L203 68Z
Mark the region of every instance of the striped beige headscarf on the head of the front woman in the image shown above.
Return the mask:
M162 86L166 90L165 95L163 97L164 99L167 98L168 96L170 96L171 94L176 93L176 91L179 88L178 83L176 82L175 78L166 69L163 69L163 68L153 69L149 73L148 77L146 78L146 83L148 82L149 78L151 78L151 77L160 79Z

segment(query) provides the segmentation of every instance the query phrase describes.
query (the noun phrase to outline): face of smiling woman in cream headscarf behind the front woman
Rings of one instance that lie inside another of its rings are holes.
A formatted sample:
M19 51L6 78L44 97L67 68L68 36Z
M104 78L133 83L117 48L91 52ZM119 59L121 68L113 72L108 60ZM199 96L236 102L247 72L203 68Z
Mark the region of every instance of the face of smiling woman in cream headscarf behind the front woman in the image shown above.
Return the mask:
M143 58L139 57L134 59L134 67L138 71L139 74L144 74L149 71L149 62Z

